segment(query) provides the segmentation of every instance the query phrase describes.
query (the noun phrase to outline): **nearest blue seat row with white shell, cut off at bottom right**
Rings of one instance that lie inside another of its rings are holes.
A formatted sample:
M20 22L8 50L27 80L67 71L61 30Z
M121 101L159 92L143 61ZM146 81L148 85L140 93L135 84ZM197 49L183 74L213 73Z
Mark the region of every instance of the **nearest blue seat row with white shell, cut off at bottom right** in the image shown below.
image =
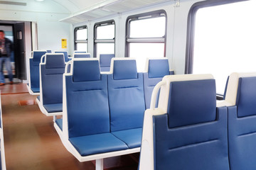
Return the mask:
M144 114L139 169L256 169L255 85L256 73L231 74L216 107L210 74L164 77Z

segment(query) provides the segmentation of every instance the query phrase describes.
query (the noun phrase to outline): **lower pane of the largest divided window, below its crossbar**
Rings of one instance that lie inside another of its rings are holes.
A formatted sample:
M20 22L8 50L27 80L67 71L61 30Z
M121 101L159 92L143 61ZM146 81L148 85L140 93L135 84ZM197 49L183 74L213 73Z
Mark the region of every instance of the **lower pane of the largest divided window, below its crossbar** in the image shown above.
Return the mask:
M146 58L164 57L164 43L130 43L130 55L137 60L138 72L145 69Z

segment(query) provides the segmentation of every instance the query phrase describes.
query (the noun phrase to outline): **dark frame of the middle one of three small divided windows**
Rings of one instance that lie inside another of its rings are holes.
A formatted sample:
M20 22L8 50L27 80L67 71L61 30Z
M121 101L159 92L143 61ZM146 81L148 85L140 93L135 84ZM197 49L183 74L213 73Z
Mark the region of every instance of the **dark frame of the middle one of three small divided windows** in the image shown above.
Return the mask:
M109 25L114 25L114 38L113 39L97 39L97 28L100 26L109 26ZM116 38L116 24L114 20L95 23L94 37L93 37L93 46L94 46L93 57L95 58L97 57L97 43L114 43L114 54L115 54L115 38Z

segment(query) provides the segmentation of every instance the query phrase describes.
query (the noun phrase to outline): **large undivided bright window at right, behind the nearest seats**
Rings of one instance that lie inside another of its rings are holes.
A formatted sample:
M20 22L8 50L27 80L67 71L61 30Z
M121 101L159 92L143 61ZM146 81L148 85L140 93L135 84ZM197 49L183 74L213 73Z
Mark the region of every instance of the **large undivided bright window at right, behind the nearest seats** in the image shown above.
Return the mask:
M213 74L218 94L224 93L230 73L256 72L255 6L255 1L240 1L196 9L186 72Z

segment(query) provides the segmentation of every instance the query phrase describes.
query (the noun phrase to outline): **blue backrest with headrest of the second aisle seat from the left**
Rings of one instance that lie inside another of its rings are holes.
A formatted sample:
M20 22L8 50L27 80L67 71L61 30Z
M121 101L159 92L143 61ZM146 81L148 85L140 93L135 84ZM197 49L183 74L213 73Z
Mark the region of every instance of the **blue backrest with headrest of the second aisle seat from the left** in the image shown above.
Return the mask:
M41 64L41 85L43 104L63 103L63 54L46 54Z

